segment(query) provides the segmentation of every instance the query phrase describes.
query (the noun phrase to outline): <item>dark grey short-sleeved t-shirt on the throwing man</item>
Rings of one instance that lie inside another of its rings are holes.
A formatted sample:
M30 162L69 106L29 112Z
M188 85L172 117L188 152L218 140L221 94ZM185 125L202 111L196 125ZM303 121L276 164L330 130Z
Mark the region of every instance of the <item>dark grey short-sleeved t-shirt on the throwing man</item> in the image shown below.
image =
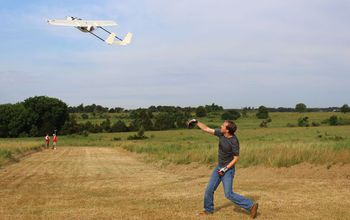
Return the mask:
M236 135L225 137L219 128L215 129L214 135L219 137L219 166L227 166L233 160L233 156L239 156L239 141Z

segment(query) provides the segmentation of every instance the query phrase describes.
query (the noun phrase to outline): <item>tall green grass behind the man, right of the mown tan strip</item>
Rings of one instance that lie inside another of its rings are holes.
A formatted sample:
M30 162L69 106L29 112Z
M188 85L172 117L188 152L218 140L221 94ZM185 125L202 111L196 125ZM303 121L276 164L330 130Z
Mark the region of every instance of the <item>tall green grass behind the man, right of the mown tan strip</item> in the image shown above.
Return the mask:
M131 152L143 153L147 161L213 164L217 161L217 138L198 130L153 132L154 139L122 142ZM320 134L322 136L320 137ZM350 127L244 129L239 166L288 167L350 163Z

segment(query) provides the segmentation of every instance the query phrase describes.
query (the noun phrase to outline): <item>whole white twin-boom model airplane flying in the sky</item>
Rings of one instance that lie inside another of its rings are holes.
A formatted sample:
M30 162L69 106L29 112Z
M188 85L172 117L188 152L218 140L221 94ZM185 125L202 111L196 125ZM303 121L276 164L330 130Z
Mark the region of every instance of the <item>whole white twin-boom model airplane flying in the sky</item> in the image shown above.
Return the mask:
M59 26L68 26L68 27L76 27L82 32L87 32L98 39L106 42L107 44L116 44L116 45L128 45L131 42L132 33L127 33L124 39L117 37L117 35L113 32L106 30L105 26L116 26L117 23L114 21L108 20L83 20L77 17L67 17L66 19L53 19L47 21L51 25L59 25ZM101 30L107 32L109 35L107 39L103 39L102 37L93 33L94 30L100 28Z

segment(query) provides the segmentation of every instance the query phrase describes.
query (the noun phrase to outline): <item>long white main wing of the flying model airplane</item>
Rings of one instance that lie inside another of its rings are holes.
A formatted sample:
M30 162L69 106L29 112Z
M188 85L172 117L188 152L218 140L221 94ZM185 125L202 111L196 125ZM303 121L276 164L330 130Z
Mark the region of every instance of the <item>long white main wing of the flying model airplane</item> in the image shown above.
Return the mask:
M66 20L66 19L53 19L47 21L51 25L70 26L70 27L104 27L104 26L116 26L117 23L109 20Z

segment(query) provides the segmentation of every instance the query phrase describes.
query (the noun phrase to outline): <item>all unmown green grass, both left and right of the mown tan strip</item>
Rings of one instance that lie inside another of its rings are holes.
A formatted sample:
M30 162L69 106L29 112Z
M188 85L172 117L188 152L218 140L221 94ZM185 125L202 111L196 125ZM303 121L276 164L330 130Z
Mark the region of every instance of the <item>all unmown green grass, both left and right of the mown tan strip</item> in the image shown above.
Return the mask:
M281 115L275 117L283 118ZM318 120L324 120L324 117ZM350 163L350 126L241 128L241 123L237 123L241 144L239 166L288 167L302 162L332 166ZM198 129L150 131L146 132L148 139L127 140L132 134L59 136L58 145L122 147L143 154L145 161L164 165L215 164L217 161L217 139ZM42 144L43 138L1 139L2 163L16 153L38 149Z

